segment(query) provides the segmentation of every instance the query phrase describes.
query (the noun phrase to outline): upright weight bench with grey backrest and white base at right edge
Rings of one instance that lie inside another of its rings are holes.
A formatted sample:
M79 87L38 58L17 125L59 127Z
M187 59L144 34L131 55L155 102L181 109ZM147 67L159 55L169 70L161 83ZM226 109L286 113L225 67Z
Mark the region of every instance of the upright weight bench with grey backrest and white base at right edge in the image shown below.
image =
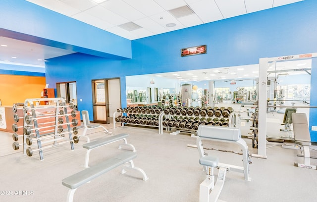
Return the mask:
M311 162L310 162L310 158L311 158L310 146L312 145L312 143L311 143L311 135L309 132L309 126L308 126L306 114L292 113L292 119L293 119L295 146L300 147L301 154L302 154L302 155L297 154L297 156L304 157L304 164L294 163L294 166L298 166L302 168L311 168L316 170L317 166L311 165Z

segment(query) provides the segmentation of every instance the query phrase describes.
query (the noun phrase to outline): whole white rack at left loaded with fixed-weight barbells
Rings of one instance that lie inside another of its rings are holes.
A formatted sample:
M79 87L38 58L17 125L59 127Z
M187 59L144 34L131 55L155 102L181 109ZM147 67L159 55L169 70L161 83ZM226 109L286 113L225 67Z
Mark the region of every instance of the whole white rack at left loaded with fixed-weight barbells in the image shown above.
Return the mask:
M38 105L41 101L47 101L50 105ZM67 108L72 109L71 113L68 113ZM74 150L74 143L78 143L78 120L76 112L74 111L74 103L70 102L66 105L63 98L39 98L39 99L26 99L23 107L19 107L13 104L12 111L14 113L13 118L15 123L12 125L14 131L12 138L14 140L12 147L14 150L18 150L20 146L23 146L23 153L28 156L32 156L33 152L38 151L40 160L44 159L43 150L52 148L64 143L70 143L71 150ZM49 113L43 114L39 112L39 109L48 109ZM23 111L23 116L19 117L18 112ZM72 119L69 119L69 116ZM54 119L54 121L42 122L45 119ZM23 120L23 125L18 126L19 120ZM65 123L64 123L65 120ZM71 129L71 125L73 128ZM63 126L66 126L64 128ZM18 130L22 129L22 133ZM65 131L66 129L66 131ZM19 134L18 134L19 133ZM67 137L68 134L68 137ZM73 136L74 134L74 136ZM23 137L23 143L19 144L19 137ZM37 148L31 148L28 146L35 145ZM32 144L33 143L33 144ZM53 144L49 144L53 143ZM47 145L48 144L48 145ZM45 145L43 147L43 145Z

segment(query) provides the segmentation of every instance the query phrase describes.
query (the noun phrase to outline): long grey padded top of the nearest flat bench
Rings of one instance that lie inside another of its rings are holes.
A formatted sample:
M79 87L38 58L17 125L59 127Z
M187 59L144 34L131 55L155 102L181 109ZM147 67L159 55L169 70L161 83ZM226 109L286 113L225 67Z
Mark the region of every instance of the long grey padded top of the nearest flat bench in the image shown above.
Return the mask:
M136 152L124 152L120 153L119 155L109 158L106 161L99 163L96 166L87 168L82 170L76 174L73 174L65 179L62 180L62 185L70 188L70 189L77 189L81 185L90 182L91 180L95 179L96 177L108 172L109 170L118 167L129 160L137 157Z

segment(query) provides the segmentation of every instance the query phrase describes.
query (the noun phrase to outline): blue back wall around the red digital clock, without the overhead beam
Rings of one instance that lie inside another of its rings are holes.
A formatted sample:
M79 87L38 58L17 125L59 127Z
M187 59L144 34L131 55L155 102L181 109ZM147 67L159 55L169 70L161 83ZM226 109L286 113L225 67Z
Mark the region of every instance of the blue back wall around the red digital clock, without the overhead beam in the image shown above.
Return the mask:
M46 62L47 83L76 81L78 99L83 99L79 110L92 116L91 79L120 77L125 106L124 76L257 64L261 57L317 52L316 10L316 1L305 0L134 40L128 60L78 53L53 58ZM207 45L207 54L180 56L180 49L198 45Z

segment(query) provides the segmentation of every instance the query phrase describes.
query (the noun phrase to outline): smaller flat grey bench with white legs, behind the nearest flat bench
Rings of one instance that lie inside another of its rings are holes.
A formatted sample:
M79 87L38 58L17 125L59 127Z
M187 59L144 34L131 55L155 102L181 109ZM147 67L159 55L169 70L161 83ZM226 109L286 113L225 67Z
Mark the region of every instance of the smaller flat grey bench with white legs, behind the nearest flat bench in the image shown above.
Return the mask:
M85 168L89 167L89 166L88 166L88 163L89 163L89 155L90 155L90 152L91 152L92 150L94 150L94 149L96 149L96 148L99 148L99 147L101 147L101 146L110 144L110 143L114 143L114 142L116 142L116 141L120 141L120 140L123 140L123 141L124 141L124 144L120 144L119 149L122 149L122 146L125 145L125 146L131 147L133 152L136 152L134 146L127 143L127 139L126 139L126 138L127 138L128 136L129 136L129 134L121 133L121 134L109 136L109 137L106 137L106 138L100 138L100 139L97 139L97 140L95 140L95 141L92 141L92 142L89 142L89 143L84 144L84 145L83 145L83 148L87 149L84 167L85 167Z

